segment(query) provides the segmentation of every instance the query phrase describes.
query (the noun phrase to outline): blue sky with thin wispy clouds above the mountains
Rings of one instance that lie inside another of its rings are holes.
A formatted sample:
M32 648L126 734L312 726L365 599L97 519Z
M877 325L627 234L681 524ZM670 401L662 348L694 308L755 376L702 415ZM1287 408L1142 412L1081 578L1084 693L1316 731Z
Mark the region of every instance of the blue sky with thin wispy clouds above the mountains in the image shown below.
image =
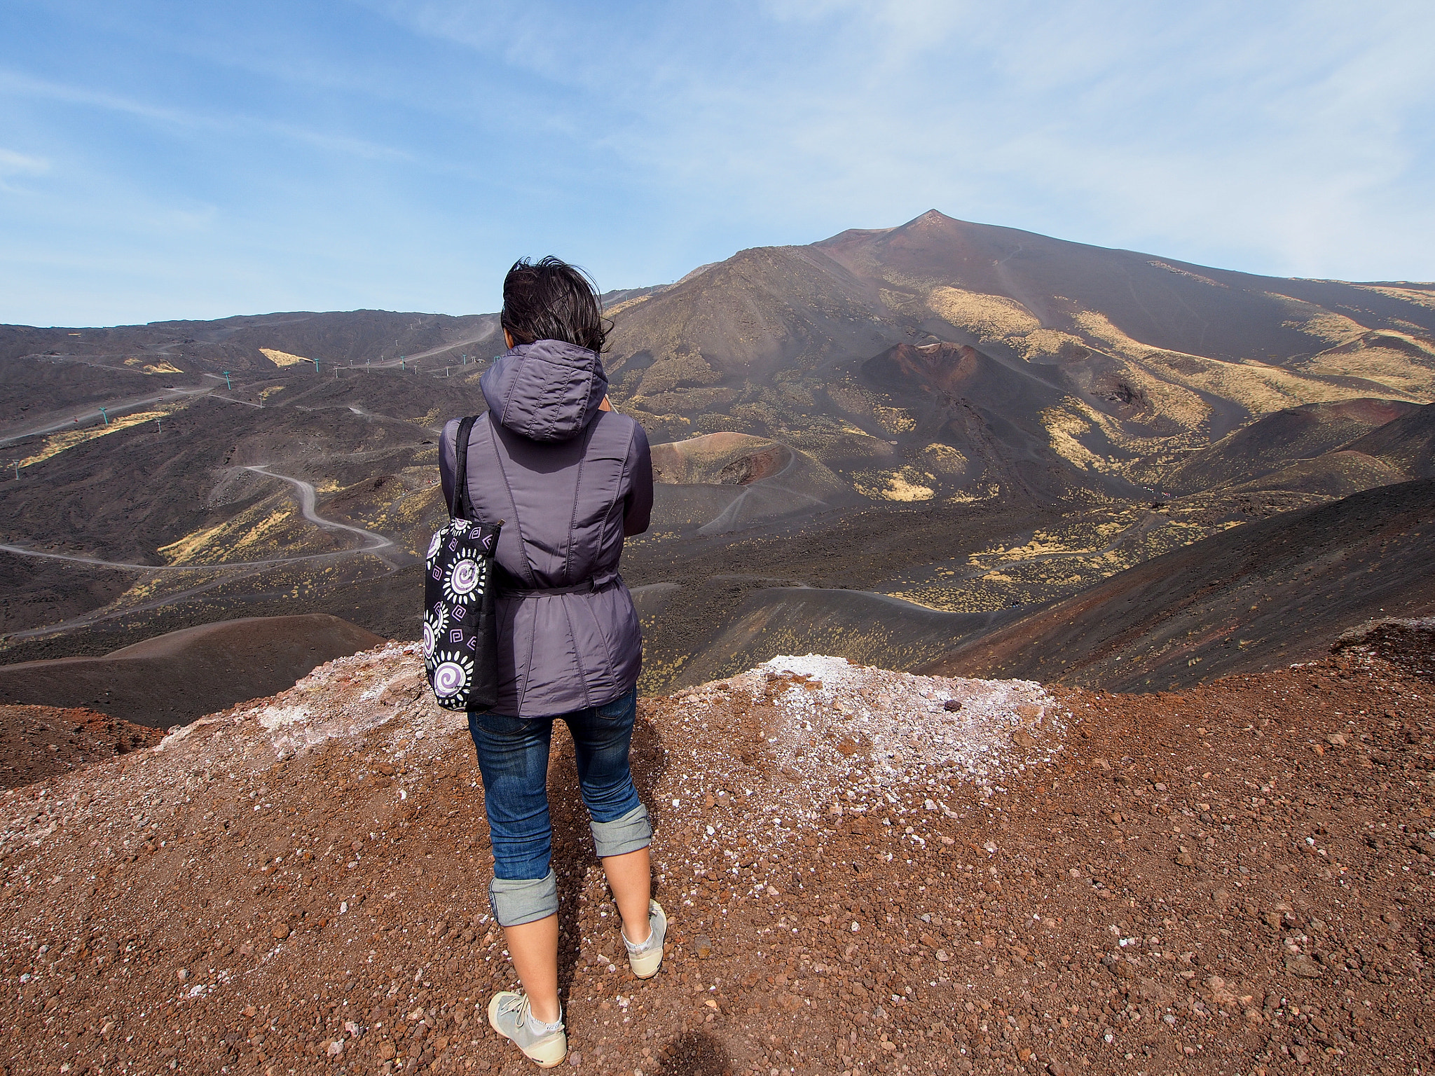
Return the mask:
M963 220L1435 278L1435 4L0 9L0 321L478 313Z

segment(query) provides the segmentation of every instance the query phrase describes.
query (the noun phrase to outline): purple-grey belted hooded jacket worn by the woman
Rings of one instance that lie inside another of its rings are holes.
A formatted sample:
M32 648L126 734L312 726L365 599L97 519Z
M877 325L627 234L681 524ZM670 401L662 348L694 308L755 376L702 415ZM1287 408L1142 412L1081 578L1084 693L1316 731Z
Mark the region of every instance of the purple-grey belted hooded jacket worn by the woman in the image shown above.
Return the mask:
M643 664L633 595L618 575L623 538L647 529L653 463L627 415L598 410L608 389L593 351L560 340L519 344L481 382L488 415L468 445L474 516L504 521L498 564L530 590L593 580L593 591L498 600L495 713L550 717L629 692ZM453 504L458 419L439 439Z

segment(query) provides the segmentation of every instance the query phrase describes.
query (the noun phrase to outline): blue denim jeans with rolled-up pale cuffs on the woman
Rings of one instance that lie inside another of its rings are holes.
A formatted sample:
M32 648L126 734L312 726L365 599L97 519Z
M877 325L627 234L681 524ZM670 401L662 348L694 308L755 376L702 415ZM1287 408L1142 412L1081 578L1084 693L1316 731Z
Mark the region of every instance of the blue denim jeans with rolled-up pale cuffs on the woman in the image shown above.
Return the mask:
M578 788L598 856L636 852L651 842L647 808L637 798L629 769L636 717L636 687L603 706L554 717L469 713L494 845L488 898L499 925L517 927L558 911L548 818L548 745L555 720L573 735Z

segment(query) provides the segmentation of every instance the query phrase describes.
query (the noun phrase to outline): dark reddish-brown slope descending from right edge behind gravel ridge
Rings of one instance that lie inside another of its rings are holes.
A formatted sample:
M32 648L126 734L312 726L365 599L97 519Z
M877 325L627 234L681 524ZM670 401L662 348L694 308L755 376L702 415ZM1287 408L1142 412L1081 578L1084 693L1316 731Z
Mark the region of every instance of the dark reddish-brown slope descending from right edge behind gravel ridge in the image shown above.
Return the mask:
M1165 690L1326 651L1346 628L1435 610L1435 481L1277 515L1147 561L931 661Z

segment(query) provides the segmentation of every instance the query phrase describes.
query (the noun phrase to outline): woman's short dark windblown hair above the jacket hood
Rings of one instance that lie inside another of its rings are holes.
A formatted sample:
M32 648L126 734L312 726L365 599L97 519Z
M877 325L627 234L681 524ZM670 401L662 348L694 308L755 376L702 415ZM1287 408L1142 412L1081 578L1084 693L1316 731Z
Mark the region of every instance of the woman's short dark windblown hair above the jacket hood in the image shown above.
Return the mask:
M601 351L613 323L603 317L598 285L577 265L551 254L534 264L519 258L504 277L504 329L515 344L567 340Z

